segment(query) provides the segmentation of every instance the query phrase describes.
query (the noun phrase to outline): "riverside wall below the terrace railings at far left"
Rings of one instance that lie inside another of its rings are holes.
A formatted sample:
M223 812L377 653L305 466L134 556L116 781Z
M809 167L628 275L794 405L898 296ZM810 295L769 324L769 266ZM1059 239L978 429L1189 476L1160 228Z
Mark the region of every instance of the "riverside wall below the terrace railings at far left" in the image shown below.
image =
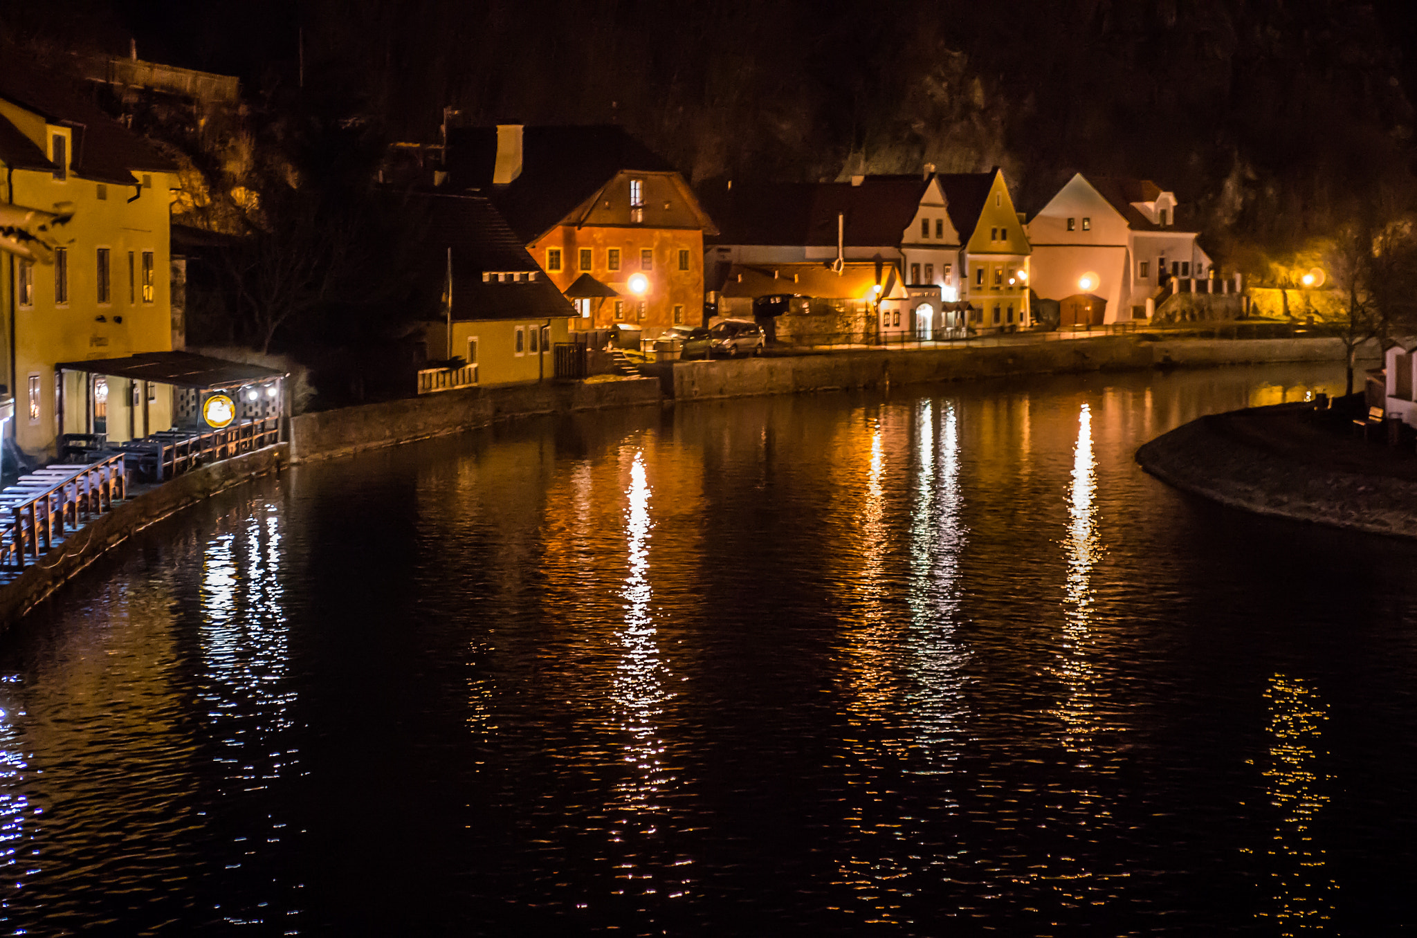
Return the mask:
M210 499L218 492L278 470L288 460L288 445L276 443L232 459L193 469L171 482L135 490L130 497L69 533L61 544L28 570L0 587L0 629L10 628L79 571L119 543L154 521Z

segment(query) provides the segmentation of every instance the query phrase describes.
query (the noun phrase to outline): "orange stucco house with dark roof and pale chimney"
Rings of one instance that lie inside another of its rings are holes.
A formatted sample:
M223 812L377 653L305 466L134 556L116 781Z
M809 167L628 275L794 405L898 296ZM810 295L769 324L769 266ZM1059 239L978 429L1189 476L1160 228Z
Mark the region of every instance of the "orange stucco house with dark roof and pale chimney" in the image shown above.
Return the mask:
M575 303L572 330L631 323L655 337L703 322L703 242L718 231L674 167L623 128L452 129L448 170L492 200Z

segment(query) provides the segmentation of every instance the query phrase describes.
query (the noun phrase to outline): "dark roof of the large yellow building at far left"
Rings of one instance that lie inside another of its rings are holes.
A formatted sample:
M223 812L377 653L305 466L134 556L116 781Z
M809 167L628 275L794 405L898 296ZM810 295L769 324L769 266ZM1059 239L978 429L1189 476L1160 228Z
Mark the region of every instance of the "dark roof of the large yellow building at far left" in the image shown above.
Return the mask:
M84 179L133 186L133 170L171 173L177 164L111 119L62 75L14 50L0 50L0 98L71 128L69 167Z

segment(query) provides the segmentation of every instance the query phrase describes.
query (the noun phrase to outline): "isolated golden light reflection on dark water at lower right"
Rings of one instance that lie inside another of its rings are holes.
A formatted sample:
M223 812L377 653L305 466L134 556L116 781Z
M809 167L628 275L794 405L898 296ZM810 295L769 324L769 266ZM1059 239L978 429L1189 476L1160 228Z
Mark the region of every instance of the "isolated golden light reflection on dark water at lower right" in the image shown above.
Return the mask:
M1284 674L1270 679L1264 697L1270 701L1265 791L1280 822L1264 850L1271 863L1271 901L1260 918L1274 920L1280 935L1318 934L1328 931L1338 888L1323 849L1314 842L1315 818L1329 801L1318 767L1328 710L1309 684Z

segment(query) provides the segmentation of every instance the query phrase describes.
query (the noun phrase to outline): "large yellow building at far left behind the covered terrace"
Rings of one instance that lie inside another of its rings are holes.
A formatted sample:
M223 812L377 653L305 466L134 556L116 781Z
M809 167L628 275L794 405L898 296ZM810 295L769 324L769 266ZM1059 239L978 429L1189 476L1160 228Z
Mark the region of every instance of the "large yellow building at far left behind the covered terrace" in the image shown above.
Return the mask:
M176 169L57 79L0 61L0 198L20 222L0 225L0 307L10 438L27 458L52 453L62 432L120 442L170 425L169 387L55 364L171 350Z

